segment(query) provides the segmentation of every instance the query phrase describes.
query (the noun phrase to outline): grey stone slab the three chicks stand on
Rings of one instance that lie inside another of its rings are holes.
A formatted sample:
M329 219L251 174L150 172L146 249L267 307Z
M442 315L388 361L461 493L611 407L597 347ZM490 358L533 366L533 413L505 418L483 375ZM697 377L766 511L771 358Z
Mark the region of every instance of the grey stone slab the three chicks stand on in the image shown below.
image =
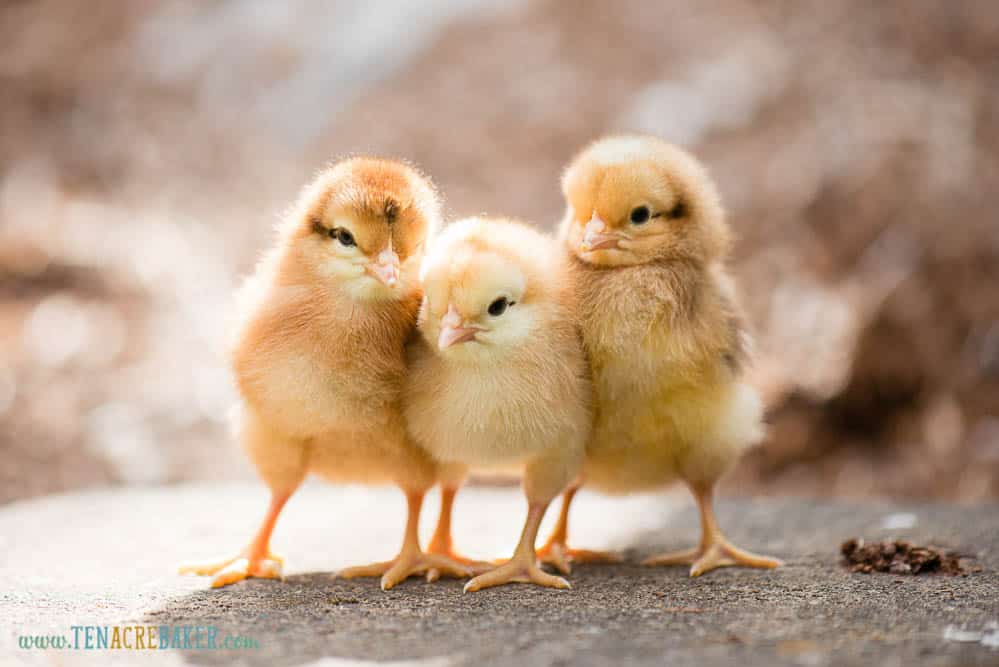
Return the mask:
M252 485L108 490L0 508L0 664L321 665L997 665L999 507L852 505L797 499L720 505L743 546L777 555L774 572L583 566L573 590L508 586L463 595L461 582L375 580L329 572L390 555L403 503L390 489L307 486L275 535L284 582L223 590L173 573L181 560L243 545L265 503ZM423 528L429 533L436 496ZM682 494L581 494L578 543L637 557L697 536ZM513 489L459 498L466 552L506 553L524 511ZM551 519L552 517L549 517ZM838 564L851 536L951 547L982 568L966 577L859 575ZM20 649L20 635L73 625L216 626L242 651Z

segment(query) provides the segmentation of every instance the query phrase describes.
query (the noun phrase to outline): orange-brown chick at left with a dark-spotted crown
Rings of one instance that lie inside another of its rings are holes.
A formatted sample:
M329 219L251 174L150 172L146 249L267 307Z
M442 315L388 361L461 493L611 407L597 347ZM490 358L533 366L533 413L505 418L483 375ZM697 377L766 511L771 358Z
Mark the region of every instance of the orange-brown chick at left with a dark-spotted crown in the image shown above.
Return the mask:
M437 467L406 435L400 391L414 333L423 246L440 218L431 184L405 164L354 158L323 171L279 228L239 294L232 368L242 443L271 491L256 536L235 557L182 567L212 586L277 578L269 549L278 514L307 473L397 484L409 515L391 562L341 572L391 588L430 569L469 576L425 554L417 525Z

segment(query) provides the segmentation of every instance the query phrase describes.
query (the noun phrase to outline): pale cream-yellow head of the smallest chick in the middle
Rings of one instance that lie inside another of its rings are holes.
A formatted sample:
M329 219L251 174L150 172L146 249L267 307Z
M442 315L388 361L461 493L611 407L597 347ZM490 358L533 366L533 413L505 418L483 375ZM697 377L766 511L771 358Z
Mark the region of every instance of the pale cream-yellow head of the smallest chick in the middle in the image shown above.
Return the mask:
M520 223L452 223L424 264L421 333L446 358L502 360L529 345L557 307L548 274L560 260L549 238Z

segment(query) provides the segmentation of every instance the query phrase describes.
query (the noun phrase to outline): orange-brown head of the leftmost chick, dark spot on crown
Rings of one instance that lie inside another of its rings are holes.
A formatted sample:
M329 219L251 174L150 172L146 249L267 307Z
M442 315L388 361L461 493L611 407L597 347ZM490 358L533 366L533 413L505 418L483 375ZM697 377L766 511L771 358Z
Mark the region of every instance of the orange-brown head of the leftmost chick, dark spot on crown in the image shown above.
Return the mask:
M440 220L433 185L394 160L351 158L324 170L291 216L290 241L311 277L357 299L400 299L419 284Z

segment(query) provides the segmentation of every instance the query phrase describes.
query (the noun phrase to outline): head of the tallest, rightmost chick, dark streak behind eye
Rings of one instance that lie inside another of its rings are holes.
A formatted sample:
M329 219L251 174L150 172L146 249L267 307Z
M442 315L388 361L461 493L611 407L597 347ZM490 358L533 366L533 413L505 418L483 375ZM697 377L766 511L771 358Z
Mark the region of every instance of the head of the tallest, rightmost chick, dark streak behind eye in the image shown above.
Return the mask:
M718 191L692 155L655 137L587 146L566 168L561 236L594 265L709 262L729 245Z

